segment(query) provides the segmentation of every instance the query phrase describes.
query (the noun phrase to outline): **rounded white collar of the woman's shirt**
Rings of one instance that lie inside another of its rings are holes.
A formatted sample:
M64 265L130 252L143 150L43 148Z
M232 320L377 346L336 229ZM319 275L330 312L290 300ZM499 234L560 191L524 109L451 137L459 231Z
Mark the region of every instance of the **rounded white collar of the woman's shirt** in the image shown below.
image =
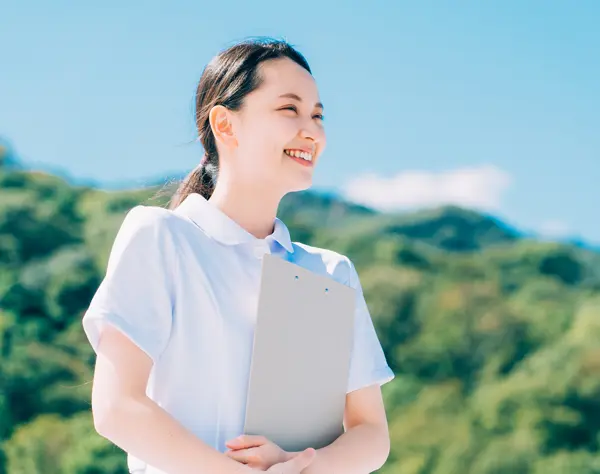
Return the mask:
M198 193L189 194L175 212L188 217L209 237L223 244L238 245L259 240ZM290 253L294 252L290 232L279 218L275 218L274 231L267 239L275 240Z

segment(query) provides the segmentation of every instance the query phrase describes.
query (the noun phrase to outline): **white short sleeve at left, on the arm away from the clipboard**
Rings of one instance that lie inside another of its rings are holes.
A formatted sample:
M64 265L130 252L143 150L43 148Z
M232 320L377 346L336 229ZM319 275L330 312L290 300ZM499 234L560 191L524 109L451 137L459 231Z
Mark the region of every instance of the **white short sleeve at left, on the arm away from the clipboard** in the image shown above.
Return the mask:
M82 321L96 352L106 324L119 329L154 363L167 344L173 314L173 272L164 212L137 206L129 211L117 233L106 275Z

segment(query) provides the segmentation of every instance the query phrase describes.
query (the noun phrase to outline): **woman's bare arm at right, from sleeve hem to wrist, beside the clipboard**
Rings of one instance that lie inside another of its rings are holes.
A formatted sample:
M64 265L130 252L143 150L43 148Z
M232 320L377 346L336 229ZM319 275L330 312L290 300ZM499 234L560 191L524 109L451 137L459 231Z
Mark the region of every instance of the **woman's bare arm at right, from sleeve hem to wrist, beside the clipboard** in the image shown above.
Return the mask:
M379 469L389 455L388 424L379 385L355 390L346 396L346 432L329 446L317 450L303 474L366 474ZM293 457L296 453L290 453Z

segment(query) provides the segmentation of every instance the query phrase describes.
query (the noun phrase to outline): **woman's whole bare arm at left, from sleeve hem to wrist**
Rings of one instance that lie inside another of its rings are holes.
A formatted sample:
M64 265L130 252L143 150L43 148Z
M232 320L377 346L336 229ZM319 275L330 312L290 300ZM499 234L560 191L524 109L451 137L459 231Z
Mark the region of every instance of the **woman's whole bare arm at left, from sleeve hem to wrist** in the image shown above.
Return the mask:
M92 390L98 433L165 472L247 472L247 466L209 447L146 396L151 367L150 357L119 330L106 326Z

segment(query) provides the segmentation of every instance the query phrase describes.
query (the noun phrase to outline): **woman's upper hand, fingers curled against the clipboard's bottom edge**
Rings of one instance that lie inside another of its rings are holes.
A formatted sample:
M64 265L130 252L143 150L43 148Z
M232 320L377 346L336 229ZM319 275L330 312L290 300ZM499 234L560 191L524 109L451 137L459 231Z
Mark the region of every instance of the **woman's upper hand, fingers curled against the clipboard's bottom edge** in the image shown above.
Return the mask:
M292 458L291 454L264 436L242 435L225 445L229 448L225 452L228 457L262 471Z

